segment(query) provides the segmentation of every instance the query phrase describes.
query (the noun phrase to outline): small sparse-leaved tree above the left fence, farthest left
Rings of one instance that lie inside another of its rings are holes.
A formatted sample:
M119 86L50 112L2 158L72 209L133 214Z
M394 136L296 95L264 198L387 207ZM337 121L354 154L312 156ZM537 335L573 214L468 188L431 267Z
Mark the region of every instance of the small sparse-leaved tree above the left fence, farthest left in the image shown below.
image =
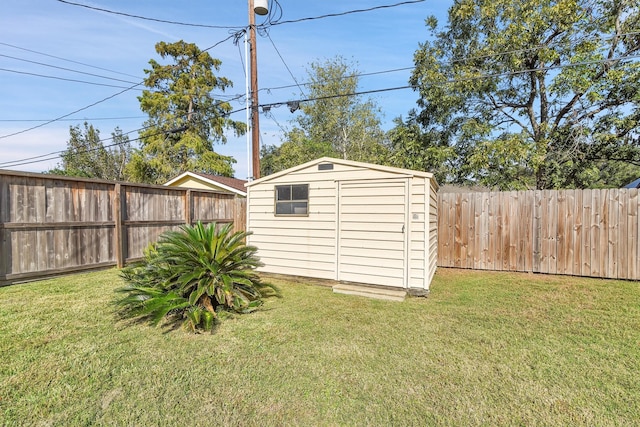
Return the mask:
M67 149L62 153L62 162L48 173L84 178L100 178L113 181L126 179L125 167L131 158L129 137L119 128L111 133L106 146L100 139L100 131L84 123L69 127Z

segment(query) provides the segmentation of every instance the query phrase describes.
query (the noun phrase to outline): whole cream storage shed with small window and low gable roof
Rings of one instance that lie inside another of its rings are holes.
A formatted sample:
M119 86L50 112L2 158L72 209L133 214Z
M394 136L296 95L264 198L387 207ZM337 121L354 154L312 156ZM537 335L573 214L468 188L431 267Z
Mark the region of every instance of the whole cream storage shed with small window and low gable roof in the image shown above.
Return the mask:
M429 289L438 247L432 174L323 157L246 186L259 271Z

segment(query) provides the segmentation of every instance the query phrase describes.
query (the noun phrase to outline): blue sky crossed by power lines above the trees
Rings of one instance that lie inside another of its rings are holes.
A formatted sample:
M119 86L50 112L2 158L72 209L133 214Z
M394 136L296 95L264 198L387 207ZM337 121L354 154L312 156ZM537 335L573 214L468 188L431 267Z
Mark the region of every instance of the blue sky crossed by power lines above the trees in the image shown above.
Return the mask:
M243 27L248 22L248 2L245 0L69 1L131 15L192 24ZM283 21L399 2L400 0L279 0ZM414 52L419 43L428 37L424 26L425 18L435 15L443 23L451 3L431 0L272 27L269 31L270 39L258 37L257 41L260 104L304 98L297 87L274 88L295 85L293 77L298 83L306 82L307 68L311 62L323 62L337 55L355 62L361 73L413 66ZM259 16L256 20L258 24L263 22L263 18ZM144 78L143 70L148 68L149 59L159 59L154 45L158 41L174 42L182 39L205 49L224 40L229 34L229 29L224 28L179 26L141 20L57 0L2 0L0 168L41 172L55 167L60 160L55 153L66 148L69 126L82 124L85 120L97 127L103 138L109 137L116 126L123 132L140 128L145 120L137 99L140 90L113 95L132 86L130 82L137 83ZM236 46L229 40L209 52L222 61L219 75L234 83L233 88L228 89L225 95L244 94L242 43ZM359 89L368 91L405 86L409 75L409 70L403 70L363 76L360 78ZM111 96L113 97L64 120L22 132ZM385 130L392 127L395 117L406 115L415 107L417 100L417 94L410 89L382 92L369 97L382 109L381 119ZM232 106L234 109L244 108L244 101L234 101ZM244 121L246 116L241 111L232 117ZM269 115L261 113L262 143L279 144L282 129L290 128L290 121L294 117L295 114L290 113L286 106L272 109ZM4 137L17 132L22 133ZM132 133L130 137L136 138L137 133ZM225 155L232 155L237 160L234 165L236 177L247 177L245 137L229 136L227 144L216 145L215 149ZM47 155L49 153L54 154ZM8 166L8 162L43 155L46 156L38 160L44 161Z

